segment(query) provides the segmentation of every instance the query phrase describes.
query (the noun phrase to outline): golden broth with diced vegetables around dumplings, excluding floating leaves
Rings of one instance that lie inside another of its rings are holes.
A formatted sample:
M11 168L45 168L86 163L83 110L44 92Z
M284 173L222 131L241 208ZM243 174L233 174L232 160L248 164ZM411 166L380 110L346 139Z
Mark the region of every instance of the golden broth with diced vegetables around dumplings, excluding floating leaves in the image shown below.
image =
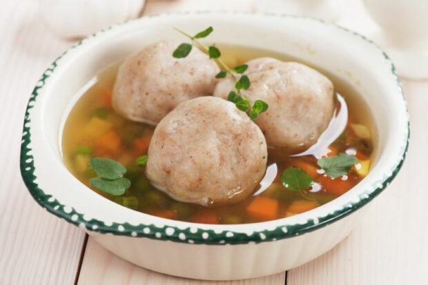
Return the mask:
M266 50L240 46L222 46L222 59L230 66L240 65L255 57L289 57ZM295 59L293 59L295 60ZM307 64L307 63L306 63ZM131 186L125 195L114 197L100 190L95 192L118 204L150 215L206 224L242 224L262 222L289 217L311 210L342 195L367 175L373 156L373 130L369 112L356 92L346 83L331 77L335 92L347 102L347 126L341 135L331 138L327 155L349 153L356 155L359 163L348 175L331 179L320 171L313 153L294 156L281 148L270 148L268 171L262 181L269 187L255 190L255 195L243 202L227 206L207 208L197 204L177 202L150 185L144 175L144 166L137 166L135 159L147 153L154 126L128 121L111 108L111 92L115 83L118 64L99 73L97 80L86 90L72 108L64 127L62 153L70 172L90 187L90 178L96 173L89 166L91 157L106 157L123 164L128 172ZM336 102L336 113L346 108ZM315 184L309 190L289 190L281 183L282 171L289 166L298 166L313 177ZM273 173L273 175L272 175ZM276 175L275 175L276 173ZM269 180L269 177L271 180ZM262 183L262 184L263 184Z

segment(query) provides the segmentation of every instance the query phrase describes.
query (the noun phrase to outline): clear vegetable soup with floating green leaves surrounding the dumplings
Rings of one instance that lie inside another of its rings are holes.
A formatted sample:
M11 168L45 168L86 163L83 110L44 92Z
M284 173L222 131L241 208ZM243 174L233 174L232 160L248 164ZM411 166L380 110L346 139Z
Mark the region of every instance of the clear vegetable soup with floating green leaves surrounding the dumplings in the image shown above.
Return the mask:
M290 60L266 50L220 47L221 58L229 66L240 67L266 56ZM358 184L371 168L375 138L369 112L352 88L329 75L337 98L333 119L317 143L301 149L268 148L267 169L260 186L235 204L180 202L155 188L146 177L155 126L125 119L112 108L117 70L116 64L102 71L72 108L64 127L62 152L77 179L127 208L204 224L263 222L326 204ZM259 119L263 115L258 115Z

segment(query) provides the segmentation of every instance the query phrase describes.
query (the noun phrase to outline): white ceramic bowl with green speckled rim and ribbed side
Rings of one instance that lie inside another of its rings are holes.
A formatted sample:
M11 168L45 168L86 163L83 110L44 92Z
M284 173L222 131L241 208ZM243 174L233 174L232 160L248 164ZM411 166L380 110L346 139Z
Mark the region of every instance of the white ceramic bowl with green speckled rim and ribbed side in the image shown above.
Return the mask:
M349 81L378 130L369 175L337 199L271 222L209 225L177 222L119 206L73 177L61 158L64 121L97 72L142 46L181 39L179 26L213 26L210 41L284 52ZM35 200L86 230L99 244L139 266L197 279L243 279L278 273L322 255L349 234L363 206L396 176L409 121L394 67L371 41L330 23L273 14L164 14L113 26L61 55L32 92L21 146L21 173Z

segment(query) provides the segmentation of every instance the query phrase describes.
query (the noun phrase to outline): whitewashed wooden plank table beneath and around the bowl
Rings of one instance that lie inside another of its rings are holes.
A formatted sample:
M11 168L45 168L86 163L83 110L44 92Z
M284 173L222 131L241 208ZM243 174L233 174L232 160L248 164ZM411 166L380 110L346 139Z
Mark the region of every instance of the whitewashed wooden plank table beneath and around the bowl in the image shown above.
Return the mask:
M255 1L152 0L143 14L253 11ZM374 26L359 1L348 1L339 23L364 33ZM0 3L0 284L205 283L134 266L32 200L19 174L24 110L41 72L72 42L46 30L37 1ZM402 83L411 115L407 161L356 230L329 253L287 273L219 284L428 284L428 81Z

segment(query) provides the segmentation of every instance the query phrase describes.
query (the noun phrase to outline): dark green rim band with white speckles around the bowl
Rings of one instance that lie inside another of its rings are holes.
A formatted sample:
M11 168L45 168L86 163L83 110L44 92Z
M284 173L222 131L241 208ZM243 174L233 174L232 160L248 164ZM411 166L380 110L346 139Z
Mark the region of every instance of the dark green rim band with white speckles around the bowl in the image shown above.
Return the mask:
M218 12L218 11L215 11ZM180 15L180 14L199 14L199 13L210 13L210 12L175 12L171 13L172 15ZM335 28L338 28L340 30L344 30L345 32L349 32L350 34L360 37L364 41L367 41L371 43L373 46L376 46L381 52L382 55L385 57L385 61L387 61L391 65L391 73L393 77L396 78L396 87L398 88L398 92L402 95L402 100L405 103L405 95L402 92L402 87L400 84L400 80L398 79L398 76L396 75L396 68L393 66L393 63L387 56L387 54L381 50L376 43L373 43L373 41L367 39L366 37L353 32L351 30L348 30L346 28L337 26L333 23L327 23L325 21L322 21L320 19L314 19L312 17L304 17L304 16L295 16L295 15L287 15L287 14L270 14L270 13L248 13L248 12L227 12L228 14L257 14L257 15L263 15L264 17L286 17L286 18L297 18L297 19L308 19L310 21L318 21L325 25L334 26ZM168 14L160 14L160 15L153 15L148 17L159 17L159 16L165 16ZM133 20L133 21L138 21ZM126 24L126 23L124 23ZM120 24L123 25L123 24ZM115 26L120 26L115 25ZM101 30L100 32L97 32L94 35L91 35L88 38L91 37L97 37L100 33L106 32L106 30L110 30L112 28L115 28L115 26L111 26L109 28L106 28L105 30ZM55 71L55 68L57 68L57 61L61 59L61 57L64 57L66 53L69 50L72 50L76 48L77 46L80 46L82 43L84 43L86 39L83 39L76 43L74 46L66 50L61 56L59 56L48 69L46 69L45 72L43 72L43 75L41 76L41 79L39 79L37 86L35 86L34 90L32 91L32 94L30 96L30 99L28 101L28 106L26 108L26 115L24 118L24 124L23 124L23 137L22 137L22 144L21 144L21 157L20 157L20 167L21 167L21 175L23 178L23 181L25 182L28 190L30 191L32 197L36 200L36 202L43 208L46 208L48 212L52 213L53 215L56 215L57 217L61 217L65 219L67 222L74 224L75 226L79 226L81 228L84 228L86 230L90 230L97 233L102 234L113 234L113 235L124 235L129 237L148 237L149 239L159 239L159 240L168 240L172 242L182 242L182 243L188 243L188 244L248 244L250 242L260 243L260 242L271 242L278 239L284 239L284 238L290 238L295 237L297 235L302 235L304 233L309 233L313 230L317 230L318 228L322 228L324 226L327 226L335 221L338 221L339 219L342 219L343 217L346 217L347 215L350 215L354 211L358 210L368 202L370 202L374 197L379 195L382 190L384 190L391 181L396 177L398 171L400 170L405 157L407 153L407 149L409 146L409 120L407 119L407 139L405 147L402 148L401 153L401 159L398 161L398 164L393 167L393 170L391 173L387 176L385 176L382 181L380 181L378 184L376 184L378 187L373 186L373 190L368 195L364 195L364 197L360 197L358 202L349 202L349 204L344 205L340 210L335 210L333 213L329 213L328 215L325 215L324 217L314 217L313 219L307 219L305 223L302 224L292 224L292 225L286 225L286 226L277 226L276 228L273 228L272 230L262 230L262 231L255 231L251 234L247 233L238 233L233 232L233 230L226 230L222 232L218 232L217 230L211 230L211 229L203 229L203 228L197 228L198 224L188 223L188 228L177 228L176 226L162 226L158 227L154 224L139 224L137 226L131 225L129 223L104 223L102 221L99 221L97 219L90 219L86 220L84 219L84 215L81 213L77 213L74 208L66 207L64 204L61 204L55 197L52 197L52 195L47 195L45 192L43 192L43 189L39 188L38 184L35 182L35 166L32 155L29 154L30 152L30 141L31 141L31 129L28 125L30 122L30 112L29 110L33 108L35 101L37 99L37 96L39 94L39 90L43 88L43 86L46 83L46 80L50 77L52 72ZM406 109L407 110L407 109ZM407 112L407 111L406 111ZM408 113L407 113L408 118ZM375 188L376 187L376 188Z

